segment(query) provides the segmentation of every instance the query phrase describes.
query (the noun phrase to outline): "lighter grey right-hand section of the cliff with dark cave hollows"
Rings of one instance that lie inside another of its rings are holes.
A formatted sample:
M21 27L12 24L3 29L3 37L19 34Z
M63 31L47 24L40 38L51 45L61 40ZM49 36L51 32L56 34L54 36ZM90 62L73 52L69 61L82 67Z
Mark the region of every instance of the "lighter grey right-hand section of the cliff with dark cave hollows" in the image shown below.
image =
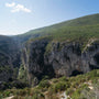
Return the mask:
M79 43L67 44L61 51L57 45L54 44L53 51L45 57L45 62L52 64L57 77L75 76L99 68L99 44L92 44L84 53Z

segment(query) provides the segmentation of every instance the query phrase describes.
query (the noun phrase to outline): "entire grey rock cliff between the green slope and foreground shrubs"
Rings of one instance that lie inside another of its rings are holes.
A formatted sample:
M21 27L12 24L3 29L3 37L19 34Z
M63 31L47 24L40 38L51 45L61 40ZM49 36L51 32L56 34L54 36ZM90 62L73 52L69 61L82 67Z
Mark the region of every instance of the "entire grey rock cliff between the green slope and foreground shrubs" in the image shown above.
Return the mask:
M31 42L23 50L23 64L29 81L36 85L45 75L53 77L75 76L99 68L99 44L94 43L81 53L81 44L53 43L52 51L45 54L47 40Z

